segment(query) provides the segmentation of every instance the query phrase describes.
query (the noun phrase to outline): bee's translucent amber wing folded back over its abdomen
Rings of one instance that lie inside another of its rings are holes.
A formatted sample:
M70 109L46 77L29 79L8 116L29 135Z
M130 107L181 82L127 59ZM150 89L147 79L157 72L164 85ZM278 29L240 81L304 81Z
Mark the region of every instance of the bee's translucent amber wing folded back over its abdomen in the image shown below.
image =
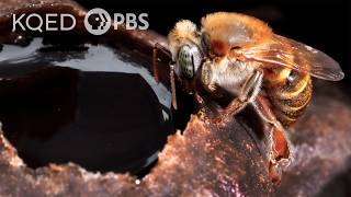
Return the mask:
M324 80L339 81L344 76L339 63L325 53L280 35L273 35L272 40L262 45L242 49L240 54L263 66L287 67Z

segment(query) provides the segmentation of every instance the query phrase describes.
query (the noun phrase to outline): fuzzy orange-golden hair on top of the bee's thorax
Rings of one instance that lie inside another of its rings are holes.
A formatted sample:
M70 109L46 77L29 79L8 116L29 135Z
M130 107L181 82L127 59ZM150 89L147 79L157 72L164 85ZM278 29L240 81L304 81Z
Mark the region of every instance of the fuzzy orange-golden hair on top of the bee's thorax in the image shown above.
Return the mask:
M230 47L254 45L272 35L271 28L264 22L239 13L207 14L201 23L202 32L208 34L211 40L223 42Z

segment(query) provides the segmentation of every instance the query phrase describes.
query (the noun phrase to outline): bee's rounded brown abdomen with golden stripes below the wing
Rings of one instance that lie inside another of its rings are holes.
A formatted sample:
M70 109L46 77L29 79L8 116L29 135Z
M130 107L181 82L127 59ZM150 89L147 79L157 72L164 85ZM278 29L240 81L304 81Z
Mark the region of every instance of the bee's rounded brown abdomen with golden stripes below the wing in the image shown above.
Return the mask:
M312 96L310 76L291 69L280 69L268 80L267 93L273 112L283 126L293 125L305 112Z

